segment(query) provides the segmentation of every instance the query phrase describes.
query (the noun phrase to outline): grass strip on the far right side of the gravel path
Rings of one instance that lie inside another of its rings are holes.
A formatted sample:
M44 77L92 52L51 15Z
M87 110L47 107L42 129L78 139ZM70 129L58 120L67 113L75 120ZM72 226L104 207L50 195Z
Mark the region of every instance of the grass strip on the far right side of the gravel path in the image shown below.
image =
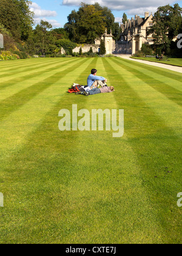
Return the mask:
M163 63L166 65L172 65L172 66L182 66L182 59L175 59L175 58L169 58L166 59L164 57L163 60L157 60L155 57L132 57L132 59L137 59L137 60L147 60L148 62L158 62L158 63Z

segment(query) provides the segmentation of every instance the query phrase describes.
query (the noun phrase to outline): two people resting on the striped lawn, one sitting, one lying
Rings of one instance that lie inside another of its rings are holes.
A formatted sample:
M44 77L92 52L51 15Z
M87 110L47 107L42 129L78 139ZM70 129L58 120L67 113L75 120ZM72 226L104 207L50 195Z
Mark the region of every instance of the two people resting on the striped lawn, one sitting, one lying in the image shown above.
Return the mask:
M84 86L85 91L79 91L76 94L83 94L86 96L98 94L98 93L112 93L113 87L107 87L107 79L103 76L96 76L97 70L92 69L91 74L87 78L87 85ZM101 86L101 88L98 88Z

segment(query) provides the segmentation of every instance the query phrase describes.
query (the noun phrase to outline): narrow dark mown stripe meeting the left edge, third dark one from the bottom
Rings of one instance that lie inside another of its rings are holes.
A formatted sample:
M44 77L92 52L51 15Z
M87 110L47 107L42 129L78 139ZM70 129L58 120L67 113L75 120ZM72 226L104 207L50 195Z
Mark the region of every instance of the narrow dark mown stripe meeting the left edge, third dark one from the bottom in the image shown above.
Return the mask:
M16 77L14 79L10 79L6 82L1 82L0 83L0 90L6 88L6 87L11 87L12 85L15 85L15 84L19 84L20 82L24 82L25 80L29 80L29 79L32 79L32 78L36 78L38 77L40 74L42 74L42 72L46 73L46 72L50 72L50 71L54 71L55 69L58 69L58 68L62 68L63 65L69 65L70 63L75 63L75 62L78 62L78 59L70 59L66 62L61 62L61 63L57 63L57 65L50 65L50 66L47 66L46 69L44 69L44 71L39 71L38 69L36 69L35 73L31 73L31 69L30 69L30 74L29 75L25 75L25 76L21 76L21 77Z

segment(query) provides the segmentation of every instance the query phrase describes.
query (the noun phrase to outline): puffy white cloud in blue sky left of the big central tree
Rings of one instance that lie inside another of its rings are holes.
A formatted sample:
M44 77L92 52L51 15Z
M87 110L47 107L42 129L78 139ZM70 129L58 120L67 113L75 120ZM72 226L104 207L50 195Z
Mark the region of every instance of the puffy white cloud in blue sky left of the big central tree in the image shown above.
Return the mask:
M46 17L55 17L57 16L57 12L56 11L52 11L52 10L43 10L41 9L41 7L36 4L36 2L32 2L32 4L29 5L30 7L30 11L34 12L34 21L35 24L39 24L41 22L41 20L44 21L48 21L50 24L52 24L53 27L59 27L60 23L58 23L58 21L56 20L48 20Z

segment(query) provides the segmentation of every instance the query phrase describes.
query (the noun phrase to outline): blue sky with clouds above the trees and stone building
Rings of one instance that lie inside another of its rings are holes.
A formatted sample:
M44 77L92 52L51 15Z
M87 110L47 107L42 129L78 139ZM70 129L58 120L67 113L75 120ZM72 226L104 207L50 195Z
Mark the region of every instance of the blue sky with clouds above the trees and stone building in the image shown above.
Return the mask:
M67 23L67 16L72 10L78 10L81 2L86 4L98 2L101 6L109 7L117 22L121 22L124 12L128 18L135 15L143 17L144 12L154 13L157 7L166 4L174 5L178 3L182 7L182 1L174 0L32 0L30 9L35 12L35 24L38 24L41 20L46 20L54 28L64 27L64 24Z

